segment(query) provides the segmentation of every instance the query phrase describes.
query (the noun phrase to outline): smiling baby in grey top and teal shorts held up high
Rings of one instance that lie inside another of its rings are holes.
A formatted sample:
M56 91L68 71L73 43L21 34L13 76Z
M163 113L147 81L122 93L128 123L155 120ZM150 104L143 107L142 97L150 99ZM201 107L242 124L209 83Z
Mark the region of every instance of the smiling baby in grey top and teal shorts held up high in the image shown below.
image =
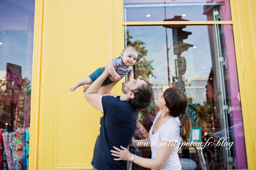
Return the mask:
M121 56L115 57L114 59L111 59L110 62L106 65L109 70L109 77L104 80L101 86L105 86L107 84L110 84L114 81L119 81L123 77L127 75L128 80L130 78L133 78L133 69L132 66L135 64L137 57L138 57L138 51L136 48L132 46L126 47L123 52L121 53ZM115 70L116 66L117 69ZM98 68L95 70L89 77L79 80L74 86L70 87L70 91L74 91L77 87L86 85L86 90L91 83L93 83L100 75L104 72L105 67Z

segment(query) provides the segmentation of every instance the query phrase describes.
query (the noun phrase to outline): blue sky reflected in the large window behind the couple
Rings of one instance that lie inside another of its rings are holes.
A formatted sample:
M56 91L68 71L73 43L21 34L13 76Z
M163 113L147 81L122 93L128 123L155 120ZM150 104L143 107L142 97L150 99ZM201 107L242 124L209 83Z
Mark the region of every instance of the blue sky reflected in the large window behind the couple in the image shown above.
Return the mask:
M154 62L152 66L155 68L153 74L157 77L158 82L167 82L167 50L166 50L166 30L162 26L127 26L127 30L133 37L131 41L136 39L145 42L145 49L148 50L146 60ZM212 67L210 43L207 26L187 26L183 31L192 32L184 43L191 44L181 56L184 56L187 63L184 77L193 77L196 79L209 78ZM168 28L168 46L172 43L172 29ZM175 76L175 63L177 58L173 54L173 47L169 50L169 66L170 75ZM205 67L205 69L204 69ZM156 81L155 80L155 81Z

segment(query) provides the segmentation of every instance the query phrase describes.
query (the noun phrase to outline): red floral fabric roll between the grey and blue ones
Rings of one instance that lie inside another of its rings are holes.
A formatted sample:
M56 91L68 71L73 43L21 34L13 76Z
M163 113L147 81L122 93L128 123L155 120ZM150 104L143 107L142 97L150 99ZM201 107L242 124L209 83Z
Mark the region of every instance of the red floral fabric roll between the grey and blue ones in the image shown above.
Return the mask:
M23 132L22 129L19 128L15 130L15 146L16 146L16 163L17 163L17 169L23 170L22 167L22 140L23 140Z

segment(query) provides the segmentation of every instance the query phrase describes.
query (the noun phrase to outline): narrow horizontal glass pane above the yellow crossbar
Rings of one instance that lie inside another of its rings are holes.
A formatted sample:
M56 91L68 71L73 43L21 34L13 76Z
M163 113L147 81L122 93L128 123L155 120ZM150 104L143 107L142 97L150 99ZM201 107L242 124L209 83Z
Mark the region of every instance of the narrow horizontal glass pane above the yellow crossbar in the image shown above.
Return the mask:
M124 0L124 21L211 21L216 7L220 12L219 20L231 21L229 0L214 3Z

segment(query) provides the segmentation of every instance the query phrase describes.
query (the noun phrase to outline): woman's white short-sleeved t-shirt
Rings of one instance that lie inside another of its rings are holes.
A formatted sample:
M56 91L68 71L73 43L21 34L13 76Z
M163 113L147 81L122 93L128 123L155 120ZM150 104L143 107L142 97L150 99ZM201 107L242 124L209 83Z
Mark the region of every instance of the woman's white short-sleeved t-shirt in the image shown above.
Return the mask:
M171 156L169 157L169 159L167 160L167 163L165 164L165 166L163 166L163 168L161 170L181 170L181 163L180 163L179 156L177 154L177 152L179 150L180 142L181 142L180 120L178 117L175 117L175 118L172 117L167 122L165 122L165 124L163 124L161 126L161 128L158 129L158 131L156 133L152 134L155 122L160 115L161 115L161 112L158 112L156 115L156 118L153 122L153 125L151 126L151 129L149 131L150 142L152 143L152 146L151 146L152 157L151 158L155 159L161 141L166 141L166 142L168 142L168 144L170 141L176 142ZM163 143L163 144L165 144L165 143ZM171 144L169 144L169 145L171 145Z

